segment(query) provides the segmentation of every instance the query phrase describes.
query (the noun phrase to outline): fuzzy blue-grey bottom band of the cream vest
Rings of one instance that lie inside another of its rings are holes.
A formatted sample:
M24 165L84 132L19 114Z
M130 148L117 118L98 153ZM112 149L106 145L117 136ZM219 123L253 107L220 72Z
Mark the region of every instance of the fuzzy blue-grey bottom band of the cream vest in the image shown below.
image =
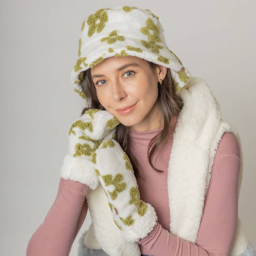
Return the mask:
M84 245L84 237L87 231L88 230L84 231L82 233L82 236L78 240L77 256L109 256L102 249L99 249L99 250L89 249L87 246ZM141 254L141 256L148 256L148 255ZM239 256L256 256L255 249L251 242L249 242L244 253L240 254Z

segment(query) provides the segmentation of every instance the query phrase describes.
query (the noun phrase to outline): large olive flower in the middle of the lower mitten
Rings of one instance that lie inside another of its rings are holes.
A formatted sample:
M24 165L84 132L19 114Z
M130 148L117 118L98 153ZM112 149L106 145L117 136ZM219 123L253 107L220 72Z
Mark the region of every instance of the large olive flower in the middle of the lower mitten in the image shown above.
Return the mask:
M105 183L105 186L114 185L115 187L112 192L108 190L108 193L112 200L115 200L118 196L118 193L126 189L126 182L121 183L121 181L124 179L121 173L116 174L114 178L111 174L102 175L101 177Z

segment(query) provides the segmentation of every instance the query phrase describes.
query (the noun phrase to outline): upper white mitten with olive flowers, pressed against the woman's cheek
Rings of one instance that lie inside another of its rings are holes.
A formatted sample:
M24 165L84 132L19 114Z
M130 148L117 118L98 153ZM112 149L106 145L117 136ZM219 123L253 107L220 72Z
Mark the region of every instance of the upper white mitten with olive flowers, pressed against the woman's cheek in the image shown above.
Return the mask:
M118 119L109 111L89 109L73 122L68 131L69 146L60 169L63 179L87 184L90 189L99 185L99 177L92 163L93 152L103 138L113 138Z

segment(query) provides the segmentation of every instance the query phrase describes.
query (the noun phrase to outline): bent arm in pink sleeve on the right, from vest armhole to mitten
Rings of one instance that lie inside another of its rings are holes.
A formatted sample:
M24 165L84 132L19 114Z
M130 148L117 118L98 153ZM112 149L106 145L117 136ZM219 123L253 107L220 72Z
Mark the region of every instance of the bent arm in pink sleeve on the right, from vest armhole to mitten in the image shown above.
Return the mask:
M196 244L157 225L138 241L154 256L228 256L236 231L240 152L232 133L224 133L212 166L211 179Z

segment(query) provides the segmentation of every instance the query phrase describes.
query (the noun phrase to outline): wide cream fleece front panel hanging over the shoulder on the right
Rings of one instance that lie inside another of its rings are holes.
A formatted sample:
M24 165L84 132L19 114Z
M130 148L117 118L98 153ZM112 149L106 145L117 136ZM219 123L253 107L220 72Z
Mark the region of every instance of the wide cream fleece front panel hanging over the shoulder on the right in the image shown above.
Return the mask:
M220 112L201 78L192 77L177 94L184 106L173 135L168 166L170 233L196 243L204 206L209 145L219 127Z

